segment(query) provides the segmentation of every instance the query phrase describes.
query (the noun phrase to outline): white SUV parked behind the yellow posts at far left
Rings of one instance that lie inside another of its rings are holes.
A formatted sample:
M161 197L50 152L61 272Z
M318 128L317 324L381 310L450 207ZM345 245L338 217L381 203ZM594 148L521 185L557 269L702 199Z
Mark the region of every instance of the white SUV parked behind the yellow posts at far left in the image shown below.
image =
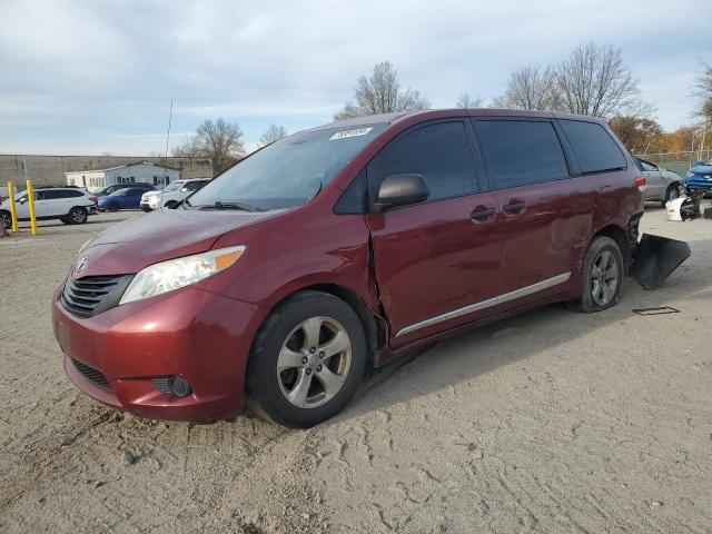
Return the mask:
M27 191L14 198L18 220L30 220ZM43 187L34 189L34 216L37 220L59 219L66 225L83 225L90 215L97 215L97 197L73 187ZM0 204L0 224L12 226L10 200Z

